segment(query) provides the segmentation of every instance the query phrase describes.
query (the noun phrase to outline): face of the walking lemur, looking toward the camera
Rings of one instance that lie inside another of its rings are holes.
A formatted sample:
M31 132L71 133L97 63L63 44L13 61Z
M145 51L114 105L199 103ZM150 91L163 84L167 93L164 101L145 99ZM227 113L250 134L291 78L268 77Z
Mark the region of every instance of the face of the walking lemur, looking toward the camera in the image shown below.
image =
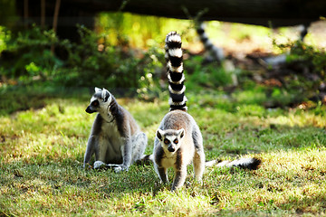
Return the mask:
M185 129L181 128L179 130L158 129L157 137L160 141L161 146L165 152L175 153L180 147L183 137L185 136Z

